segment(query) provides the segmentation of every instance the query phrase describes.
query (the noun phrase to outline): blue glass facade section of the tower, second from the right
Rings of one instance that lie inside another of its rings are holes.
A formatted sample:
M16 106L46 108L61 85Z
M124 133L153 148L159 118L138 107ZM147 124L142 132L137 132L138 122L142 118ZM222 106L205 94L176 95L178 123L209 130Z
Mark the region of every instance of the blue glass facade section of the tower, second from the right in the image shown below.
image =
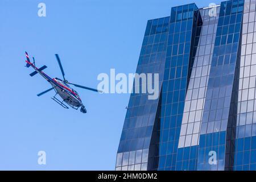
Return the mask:
M224 170L233 165L236 101L232 95L238 95L235 74L240 63L242 12L243 1L221 3L200 131L200 140L206 142L199 144L198 170ZM209 163L211 151L216 152L216 164Z

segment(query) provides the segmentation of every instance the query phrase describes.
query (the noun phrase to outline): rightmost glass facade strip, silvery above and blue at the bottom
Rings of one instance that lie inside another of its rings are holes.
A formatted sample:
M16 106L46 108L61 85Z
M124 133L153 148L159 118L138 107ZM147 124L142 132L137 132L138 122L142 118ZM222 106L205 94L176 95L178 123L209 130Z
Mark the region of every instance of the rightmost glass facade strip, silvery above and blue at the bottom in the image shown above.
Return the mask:
M238 86L234 170L256 170L255 1L245 1Z

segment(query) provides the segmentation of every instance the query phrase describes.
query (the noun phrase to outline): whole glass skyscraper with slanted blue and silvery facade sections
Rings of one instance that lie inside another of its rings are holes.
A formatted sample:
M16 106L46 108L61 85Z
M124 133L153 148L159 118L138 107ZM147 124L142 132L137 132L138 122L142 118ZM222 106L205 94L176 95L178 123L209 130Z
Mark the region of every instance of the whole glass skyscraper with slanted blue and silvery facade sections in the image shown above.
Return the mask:
M191 3L148 20L137 73L158 73L160 93L131 94L116 170L256 170L255 8Z

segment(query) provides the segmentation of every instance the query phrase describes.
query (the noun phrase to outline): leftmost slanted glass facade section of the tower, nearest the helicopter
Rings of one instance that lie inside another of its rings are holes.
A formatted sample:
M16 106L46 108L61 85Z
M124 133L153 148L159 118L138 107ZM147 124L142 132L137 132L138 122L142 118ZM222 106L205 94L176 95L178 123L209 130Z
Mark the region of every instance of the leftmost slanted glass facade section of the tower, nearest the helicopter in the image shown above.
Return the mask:
M163 80L169 22L169 16L148 20L136 73L158 73L159 80ZM142 82L139 84L141 86ZM159 85L162 85L161 81ZM155 135L153 128L158 120L158 102L159 99L148 100L147 93L131 94L118 147L117 170L148 168L148 158L152 153L150 144Z

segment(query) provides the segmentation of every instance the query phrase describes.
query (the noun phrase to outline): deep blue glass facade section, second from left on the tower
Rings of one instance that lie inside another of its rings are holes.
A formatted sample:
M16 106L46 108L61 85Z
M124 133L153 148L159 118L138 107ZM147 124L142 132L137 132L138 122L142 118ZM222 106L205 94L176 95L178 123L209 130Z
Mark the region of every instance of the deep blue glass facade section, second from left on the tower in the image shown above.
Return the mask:
M162 84L159 170L175 170L194 37L201 16L195 4L173 7ZM182 156L181 156L182 158ZM195 163L194 163L195 164Z

